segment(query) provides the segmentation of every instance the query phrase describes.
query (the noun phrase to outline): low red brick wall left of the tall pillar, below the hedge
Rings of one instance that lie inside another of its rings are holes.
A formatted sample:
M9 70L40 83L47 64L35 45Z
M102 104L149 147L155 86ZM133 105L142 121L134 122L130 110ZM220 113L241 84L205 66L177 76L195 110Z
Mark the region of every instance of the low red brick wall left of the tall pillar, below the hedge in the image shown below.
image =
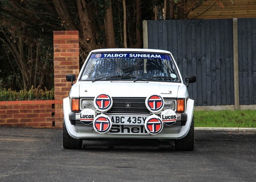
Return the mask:
M54 100L25 100L0 102L0 126L55 126Z

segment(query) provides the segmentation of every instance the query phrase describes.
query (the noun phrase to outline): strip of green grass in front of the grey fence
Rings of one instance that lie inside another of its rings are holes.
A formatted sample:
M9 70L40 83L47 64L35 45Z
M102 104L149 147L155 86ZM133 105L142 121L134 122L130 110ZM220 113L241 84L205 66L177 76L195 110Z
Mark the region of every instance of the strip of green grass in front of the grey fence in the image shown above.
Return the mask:
M256 110L194 111L195 127L256 128Z

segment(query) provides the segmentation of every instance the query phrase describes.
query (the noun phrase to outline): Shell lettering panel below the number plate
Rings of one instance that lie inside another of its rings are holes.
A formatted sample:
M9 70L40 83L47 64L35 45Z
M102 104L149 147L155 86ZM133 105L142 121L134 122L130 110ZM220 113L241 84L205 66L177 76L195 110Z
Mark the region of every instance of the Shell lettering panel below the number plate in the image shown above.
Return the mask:
M108 134L137 134L147 135L149 134L143 125L116 125L113 124Z

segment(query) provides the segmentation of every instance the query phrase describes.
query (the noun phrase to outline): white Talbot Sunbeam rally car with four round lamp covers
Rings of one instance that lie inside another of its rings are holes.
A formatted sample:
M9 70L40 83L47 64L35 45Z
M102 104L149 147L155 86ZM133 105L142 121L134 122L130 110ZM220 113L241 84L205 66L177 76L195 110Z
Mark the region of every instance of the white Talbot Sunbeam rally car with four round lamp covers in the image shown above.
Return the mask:
M194 100L172 54L154 49L99 49L89 53L63 99L63 147L86 138L172 139L194 149Z

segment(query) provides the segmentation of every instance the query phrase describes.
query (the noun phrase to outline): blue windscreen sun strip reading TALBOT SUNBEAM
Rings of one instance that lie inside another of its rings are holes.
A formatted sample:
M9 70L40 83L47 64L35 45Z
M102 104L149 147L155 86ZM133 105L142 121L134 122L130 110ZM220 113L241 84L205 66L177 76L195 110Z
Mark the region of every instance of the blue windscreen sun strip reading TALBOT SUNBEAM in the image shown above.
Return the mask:
M158 59L166 59L165 54L147 54L147 53L99 53L92 54L90 59L94 58L158 58Z

